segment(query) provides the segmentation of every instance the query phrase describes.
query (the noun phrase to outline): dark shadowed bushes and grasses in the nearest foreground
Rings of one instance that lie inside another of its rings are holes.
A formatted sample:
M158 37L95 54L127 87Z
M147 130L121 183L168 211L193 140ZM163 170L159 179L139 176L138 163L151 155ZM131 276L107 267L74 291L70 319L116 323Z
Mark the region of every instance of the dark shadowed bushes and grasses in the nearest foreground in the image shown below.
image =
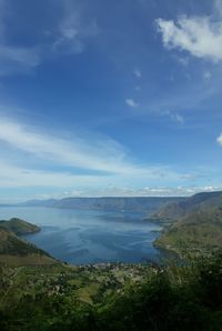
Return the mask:
M222 253L157 268L141 284L83 304L64 294L23 297L1 311L1 330L222 330Z

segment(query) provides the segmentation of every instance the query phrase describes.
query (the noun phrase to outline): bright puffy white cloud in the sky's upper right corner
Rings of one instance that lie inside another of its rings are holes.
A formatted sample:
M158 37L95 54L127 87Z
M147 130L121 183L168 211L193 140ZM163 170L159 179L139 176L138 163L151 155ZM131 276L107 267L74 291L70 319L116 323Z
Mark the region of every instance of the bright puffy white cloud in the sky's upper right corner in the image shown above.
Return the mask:
M221 8L221 1L216 6ZM157 26L164 47L178 48L214 62L222 60L222 16L216 20L213 16L181 16L176 22L160 18Z

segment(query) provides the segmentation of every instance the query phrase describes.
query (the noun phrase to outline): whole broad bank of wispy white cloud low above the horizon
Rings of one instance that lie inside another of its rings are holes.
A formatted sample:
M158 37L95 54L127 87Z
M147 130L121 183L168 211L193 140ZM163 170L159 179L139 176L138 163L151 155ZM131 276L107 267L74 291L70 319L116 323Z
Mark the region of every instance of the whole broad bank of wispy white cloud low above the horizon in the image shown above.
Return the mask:
M67 188L77 195L94 197L173 195L185 194L185 187L176 191L178 185L185 183L189 188L193 183L192 174L173 167L140 164L109 137L65 133L65 138L46 133L42 128L2 117L0 187Z

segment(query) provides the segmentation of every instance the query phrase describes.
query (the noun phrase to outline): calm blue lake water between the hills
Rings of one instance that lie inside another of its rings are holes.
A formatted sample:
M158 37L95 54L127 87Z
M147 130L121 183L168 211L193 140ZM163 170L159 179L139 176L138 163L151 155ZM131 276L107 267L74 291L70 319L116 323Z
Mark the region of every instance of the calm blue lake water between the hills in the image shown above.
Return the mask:
M2 207L0 219L21 218L41 227L27 240L72 264L158 261L152 242L161 228L144 214L34 207Z

